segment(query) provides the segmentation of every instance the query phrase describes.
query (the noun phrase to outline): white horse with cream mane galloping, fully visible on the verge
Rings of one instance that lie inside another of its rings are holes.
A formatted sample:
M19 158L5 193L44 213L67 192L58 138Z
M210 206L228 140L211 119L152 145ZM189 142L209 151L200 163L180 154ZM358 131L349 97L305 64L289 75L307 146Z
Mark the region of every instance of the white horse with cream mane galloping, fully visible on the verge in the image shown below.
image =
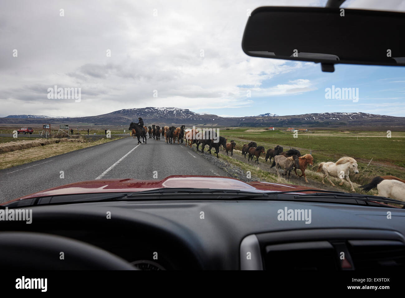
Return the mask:
M322 184L325 184L324 178L327 177L330 184L335 186L333 182L330 180L329 175L338 177L341 179L339 185L343 185L344 180L346 179L347 182L350 183L350 187L352 187L352 191L355 191L353 187L352 181L349 178L349 170L352 169L355 174L358 174L357 169L357 161L352 157L341 157L336 163L328 162L328 163L320 163L319 169L317 172L324 172L324 176L322 177Z

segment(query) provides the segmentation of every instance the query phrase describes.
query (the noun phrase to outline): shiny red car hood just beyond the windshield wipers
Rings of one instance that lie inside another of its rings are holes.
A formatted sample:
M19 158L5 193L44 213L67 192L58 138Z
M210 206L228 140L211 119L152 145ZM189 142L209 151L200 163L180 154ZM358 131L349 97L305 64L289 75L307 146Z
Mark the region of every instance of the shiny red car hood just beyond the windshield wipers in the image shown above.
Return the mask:
M18 199L3 203L8 204L21 199L33 197L49 197L56 195L72 195L79 193L117 193L147 191L158 188L171 187L193 187L207 189L237 189L242 191L294 191L300 189L310 189L309 187L280 184L270 182L243 182L229 177L218 176L168 176L162 180L136 180L136 179L104 179L88 180L70 183L45 191L39 191L26 195ZM311 193L311 192L309 192ZM1 205L3 205L1 204Z

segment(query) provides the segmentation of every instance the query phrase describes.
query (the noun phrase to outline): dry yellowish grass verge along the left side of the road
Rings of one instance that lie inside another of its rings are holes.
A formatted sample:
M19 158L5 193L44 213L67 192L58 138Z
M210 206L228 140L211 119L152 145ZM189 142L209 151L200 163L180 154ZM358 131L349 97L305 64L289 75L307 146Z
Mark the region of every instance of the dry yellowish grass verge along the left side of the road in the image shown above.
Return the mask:
M49 144L39 147L33 147L28 149L17 150L13 152L7 152L0 154L0 169L8 169L17 165L23 165L32 161L39 161L48 157L53 157L59 154L68 153L71 151L92 147L123 137L117 138L102 138L95 141L82 142L60 142L55 144Z

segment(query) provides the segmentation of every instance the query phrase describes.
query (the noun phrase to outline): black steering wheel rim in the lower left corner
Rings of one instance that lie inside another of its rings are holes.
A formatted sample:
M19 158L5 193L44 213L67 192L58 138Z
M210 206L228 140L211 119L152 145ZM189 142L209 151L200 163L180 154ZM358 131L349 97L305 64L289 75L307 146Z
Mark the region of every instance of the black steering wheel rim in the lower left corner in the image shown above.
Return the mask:
M137 270L85 242L31 232L0 232L0 264L6 270Z

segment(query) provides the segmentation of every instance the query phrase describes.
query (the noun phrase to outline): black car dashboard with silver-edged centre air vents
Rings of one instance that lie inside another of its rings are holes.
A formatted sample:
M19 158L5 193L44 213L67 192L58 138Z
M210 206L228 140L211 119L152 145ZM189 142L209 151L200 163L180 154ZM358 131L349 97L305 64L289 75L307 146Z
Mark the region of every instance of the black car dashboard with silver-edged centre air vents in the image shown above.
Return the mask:
M31 224L3 222L1 230L72 238L141 270L405 266L405 210L398 208L264 200L89 202L31 208ZM280 210L290 209L311 210L310 221L280 215Z

